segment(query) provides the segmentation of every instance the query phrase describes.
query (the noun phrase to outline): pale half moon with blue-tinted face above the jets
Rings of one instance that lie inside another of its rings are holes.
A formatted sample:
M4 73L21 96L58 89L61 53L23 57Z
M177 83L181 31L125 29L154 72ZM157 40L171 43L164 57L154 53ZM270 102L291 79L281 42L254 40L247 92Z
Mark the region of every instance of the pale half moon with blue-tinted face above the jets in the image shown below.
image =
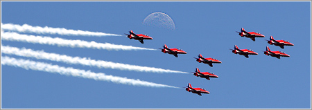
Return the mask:
M153 12L144 19L142 24L146 26L175 30L175 23L171 17L162 12Z

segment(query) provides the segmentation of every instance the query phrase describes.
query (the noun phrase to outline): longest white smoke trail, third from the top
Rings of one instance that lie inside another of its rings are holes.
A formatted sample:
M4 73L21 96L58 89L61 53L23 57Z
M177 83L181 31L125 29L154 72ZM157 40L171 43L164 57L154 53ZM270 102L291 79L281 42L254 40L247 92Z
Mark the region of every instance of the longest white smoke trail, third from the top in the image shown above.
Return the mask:
M46 53L44 51L33 51L32 49L16 48L11 46L2 46L1 53L9 55L18 55L22 57L35 57L36 59L46 59L56 62L64 62L67 64L81 64L85 66L96 66L98 68L113 68L126 71L154 72L154 73L186 73L182 71L172 71L163 68L154 68L147 66L137 66L130 64L121 64L115 62L107 62L103 60L89 59L87 57L71 57L56 53Z

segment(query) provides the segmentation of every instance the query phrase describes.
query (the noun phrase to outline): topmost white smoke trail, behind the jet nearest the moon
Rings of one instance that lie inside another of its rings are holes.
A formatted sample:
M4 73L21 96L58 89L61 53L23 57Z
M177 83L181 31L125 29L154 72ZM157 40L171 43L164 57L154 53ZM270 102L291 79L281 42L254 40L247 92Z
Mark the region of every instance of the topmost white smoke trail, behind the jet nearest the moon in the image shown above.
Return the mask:
M1 28L3 30L12 30L12 31L18 31L21 33L37 33L37 34L51 34L51 35L83 35L83 36L121 36L121 35L115 35L115 34L109 34L109 33L101 33L101 32L90 32L90 31L84 31L84 30L69 30L66 28L51 28L48 26L45 26L44 28L40 26L30 26L28 24L24 24L22 26L18 24L2 24Z

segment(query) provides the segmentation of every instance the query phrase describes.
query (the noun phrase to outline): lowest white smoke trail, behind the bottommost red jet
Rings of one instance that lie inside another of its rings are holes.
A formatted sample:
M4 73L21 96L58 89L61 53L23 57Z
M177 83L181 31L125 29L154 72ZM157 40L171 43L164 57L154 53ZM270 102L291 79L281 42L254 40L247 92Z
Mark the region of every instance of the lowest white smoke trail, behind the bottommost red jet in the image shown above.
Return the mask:
M170 87L178 88L175 86L168 86L165 84L157 84L153 82L146 82L141 80L128 79L127 77L118 77L113 75L105 75L105 73L93 73L91 71L80 70L71 67L63 67L58 65L46 64L44 62L34 62L26 59L15 59L12 57L3 56L1 64L8 66L15 66L24 68L26 70L31 69L34 71L45 71L49 73L59 73L61 75L72 75L74 77L83 77L94 80L101 80L107 82L114 82L117 84L128 84L133 86L149 86L149 87Z

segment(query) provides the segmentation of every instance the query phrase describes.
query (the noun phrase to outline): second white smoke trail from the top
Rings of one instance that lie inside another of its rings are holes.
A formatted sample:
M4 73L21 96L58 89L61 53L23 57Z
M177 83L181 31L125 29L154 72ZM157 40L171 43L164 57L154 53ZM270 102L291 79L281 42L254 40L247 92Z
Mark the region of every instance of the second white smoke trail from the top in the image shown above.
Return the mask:
M35 35L21 35L18 33L1 33L1 38L8 41L17 41L17 42L28 42L33 44L48 44L48 45L57 45L57 46L67 46L71 48L96 48L96 49L106 49L114 51L131 51L131 50L150 50L156 51L153 48L141 48L135 46L123 46L109 43L97 43L97 42L86 42L82 40L71 40L71 39L62 39L62 38L52 38L52 37L42 37Z

